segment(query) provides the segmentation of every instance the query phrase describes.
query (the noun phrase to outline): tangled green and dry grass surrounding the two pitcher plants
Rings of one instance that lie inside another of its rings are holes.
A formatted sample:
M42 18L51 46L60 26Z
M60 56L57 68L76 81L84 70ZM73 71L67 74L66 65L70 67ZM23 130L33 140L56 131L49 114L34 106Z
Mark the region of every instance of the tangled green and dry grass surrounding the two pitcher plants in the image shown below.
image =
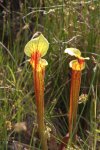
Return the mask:
M37 136L36 106L31 66L24 55L25 44L41 31L50 42L45 59L45 120L57 143L68 131L70 57L67 47L79 48L90 61L82 74L80 94L88 101L79 105L78 134L81 149L98 150L100 109L100 19L99 0L20 2L20 7L0 11L0 149L8 149L13 140L40 149ZM42 8L43 7L43 8ZM41 13L41 10L42 13ZM95 60L94 60L95 59ZM6 121L12 128L7 130ZM18 122L27 123L27 131L13 132ZM12 133L13 132L13 133ZM7 144L9 139L9 144ZM6 143L6 144L5 144ZM15 144L16 145L16 144Z

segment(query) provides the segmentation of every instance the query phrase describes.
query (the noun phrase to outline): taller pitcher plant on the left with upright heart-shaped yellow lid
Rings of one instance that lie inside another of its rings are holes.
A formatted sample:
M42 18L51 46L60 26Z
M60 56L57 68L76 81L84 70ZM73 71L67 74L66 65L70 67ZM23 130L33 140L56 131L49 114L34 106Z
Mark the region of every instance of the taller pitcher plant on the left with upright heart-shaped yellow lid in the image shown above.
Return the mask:
M48 62L42 57L47 53L49 43L42 33L35 34L25 46L24 52L30 57L30 64L33 70L34 91L37 106L38 131L41 140L42 150L47 150L47 137L44 123L44 76L45 67Z

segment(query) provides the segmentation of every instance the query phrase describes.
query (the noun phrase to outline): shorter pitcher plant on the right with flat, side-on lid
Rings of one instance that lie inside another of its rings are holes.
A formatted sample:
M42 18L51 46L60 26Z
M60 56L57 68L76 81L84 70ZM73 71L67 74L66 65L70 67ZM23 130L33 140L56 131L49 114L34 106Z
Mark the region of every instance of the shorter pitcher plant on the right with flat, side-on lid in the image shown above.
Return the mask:
M77 109L78 109L78 100L79 92L81 85L81 75L82 70L85 68L85 59L81 56L80 50L76 48L67 48L65 53L76 57L75 60L72 60L69 63L69 66L72 70L71 74L71 88L70 88L70 108L69 108L69 136L75 140L75 135L77 132Z

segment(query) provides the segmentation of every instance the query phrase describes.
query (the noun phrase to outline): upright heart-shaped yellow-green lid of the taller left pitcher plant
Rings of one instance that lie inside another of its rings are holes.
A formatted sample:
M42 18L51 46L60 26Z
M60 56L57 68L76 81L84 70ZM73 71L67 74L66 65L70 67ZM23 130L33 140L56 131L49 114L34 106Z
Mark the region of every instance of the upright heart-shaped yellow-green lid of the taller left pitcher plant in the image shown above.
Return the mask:
M27 56L31 57L31 55L35 52L39 52L41 57L47 53L49 48L49 42L40 34L38 37L31 39L25 46L24 52Z

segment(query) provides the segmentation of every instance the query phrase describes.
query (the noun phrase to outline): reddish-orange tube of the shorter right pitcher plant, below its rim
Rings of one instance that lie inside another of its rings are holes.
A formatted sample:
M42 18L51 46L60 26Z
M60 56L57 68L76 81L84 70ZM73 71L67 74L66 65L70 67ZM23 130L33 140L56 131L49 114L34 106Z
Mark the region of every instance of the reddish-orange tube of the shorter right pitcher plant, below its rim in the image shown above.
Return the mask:
M69 135L75 139L77 132L77 109L81 84L81 71L72 69L70 109L69 109Z

